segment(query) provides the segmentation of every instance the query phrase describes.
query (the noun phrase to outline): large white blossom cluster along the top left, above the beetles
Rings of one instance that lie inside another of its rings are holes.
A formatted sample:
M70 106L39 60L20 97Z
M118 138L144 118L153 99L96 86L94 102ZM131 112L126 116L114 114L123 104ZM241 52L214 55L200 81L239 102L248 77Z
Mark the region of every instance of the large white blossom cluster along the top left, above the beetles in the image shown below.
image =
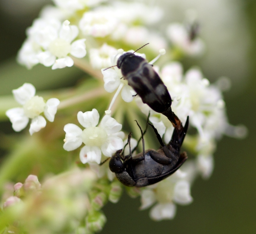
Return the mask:
M85 38L89 38L89 60L94 69L110 66L110 57L116 48L97 40L123 41L140 46L151 41L153 51L167 47L164 37L149 32L143 25L151 25L162 18L162 10L139 2L113 2L100 5L103 0L54 1L56 6L45 7L40 18L27 30L27 39L19 53L18 62L32 68L40 63L52 69L71 67L74 62L70 55L83 58L86 55ZM90 9L88 11L88 9ZM76 11L80 11L79 16ZM82 12L82 14L81 14ZM148 12L148 14L141 14ZM70 25L76 18L75 24ZM67 20L69 19L69 20Z

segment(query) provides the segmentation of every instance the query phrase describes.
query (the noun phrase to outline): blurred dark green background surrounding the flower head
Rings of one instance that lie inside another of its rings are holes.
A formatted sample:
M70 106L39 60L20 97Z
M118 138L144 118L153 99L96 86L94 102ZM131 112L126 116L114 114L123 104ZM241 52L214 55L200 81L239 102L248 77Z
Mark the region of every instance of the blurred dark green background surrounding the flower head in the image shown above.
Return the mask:
M199 9L201 37L208 50L201 60L185 60L184 67L199 65L211 82L220 76L232 80L233 86L224 93L229 122L244 124L249 134L244 140L229 137L220 140L212 177L207 181L196 180L192 186L193 203L178 206L174 220L154 222L149 219L148 210L138 211L139 199L123 195L118 204L105 206L108 222L102 233L256 233L256 2L213 2L214 6L208 0L193 0L189 5L185 0L163 4L168 6L167 12L172 9L176 14L186 7ZM37 90L67 87L83 75L76 68L52 71L36 66L28 71L16 64L15 56L25 39L25 29L46 3L49 1L0 1L0 95L11 94L12 89L24 82L32 82ZM180 7L179 11L174 6ZM182 15L170 17L173 18L166 21L182 20ZM0 134L10 132L10 122L1 122ZM5 151L1 154L4 156Z

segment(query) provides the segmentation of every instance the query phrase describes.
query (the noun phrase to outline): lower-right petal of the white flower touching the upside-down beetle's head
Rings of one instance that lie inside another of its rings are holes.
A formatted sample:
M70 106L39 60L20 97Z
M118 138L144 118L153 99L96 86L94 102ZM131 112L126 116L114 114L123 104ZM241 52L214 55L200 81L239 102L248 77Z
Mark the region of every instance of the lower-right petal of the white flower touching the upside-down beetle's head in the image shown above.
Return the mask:
M119 137L108 137L106 143L101 145L101 151L107 157L111 157L117 150L123 149L123 140Z

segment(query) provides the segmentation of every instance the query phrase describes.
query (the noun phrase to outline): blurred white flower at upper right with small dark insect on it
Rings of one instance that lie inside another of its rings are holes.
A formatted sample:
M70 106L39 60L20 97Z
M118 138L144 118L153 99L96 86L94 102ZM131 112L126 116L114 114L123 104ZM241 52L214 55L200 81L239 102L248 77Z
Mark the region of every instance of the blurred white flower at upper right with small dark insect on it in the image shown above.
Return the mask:
M167 36L171 42L188 55L201 55L204 43L200 38L190 39L188 30L180 23L172 23L167 27Z

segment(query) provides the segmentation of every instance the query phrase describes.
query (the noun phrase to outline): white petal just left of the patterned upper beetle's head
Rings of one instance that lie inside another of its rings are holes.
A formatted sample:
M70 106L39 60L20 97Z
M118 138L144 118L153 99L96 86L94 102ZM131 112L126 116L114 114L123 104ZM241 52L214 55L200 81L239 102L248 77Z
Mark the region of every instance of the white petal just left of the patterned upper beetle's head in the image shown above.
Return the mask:
M104 89L107 92L114 92L121 83L118 73L115 69L107 69L105 71L101 69L101 73L103 74Z

